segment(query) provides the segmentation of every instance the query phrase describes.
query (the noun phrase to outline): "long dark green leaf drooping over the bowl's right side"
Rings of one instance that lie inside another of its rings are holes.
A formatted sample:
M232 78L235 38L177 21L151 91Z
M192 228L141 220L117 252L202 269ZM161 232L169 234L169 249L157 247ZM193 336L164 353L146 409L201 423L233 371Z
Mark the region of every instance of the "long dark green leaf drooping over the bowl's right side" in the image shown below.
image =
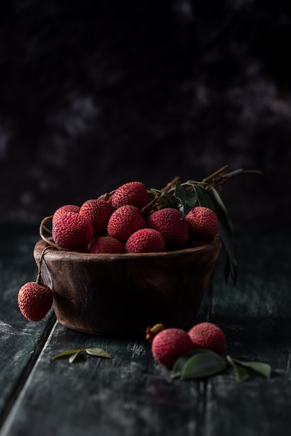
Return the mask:
M212 194L199 185L194 185L198 202L201 206L210 208L217 215L219 220L219 238L226 250L225 278L228 279L229 273L233 278L233 283L237 281L237 260L235 259L233 226L230 217L216 189L212 189Z

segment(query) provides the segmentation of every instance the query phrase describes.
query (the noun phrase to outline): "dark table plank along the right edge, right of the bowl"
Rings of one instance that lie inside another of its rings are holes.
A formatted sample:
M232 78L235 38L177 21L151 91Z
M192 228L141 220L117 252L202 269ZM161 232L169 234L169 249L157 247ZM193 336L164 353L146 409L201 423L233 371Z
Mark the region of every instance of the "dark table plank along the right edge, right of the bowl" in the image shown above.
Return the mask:
M237 384L233 375L207 380L205 435L285 435L291 425L291 239L284 231L237 238L236 288L215 286L212 321L228 337L228 353L271 364L271 380Z

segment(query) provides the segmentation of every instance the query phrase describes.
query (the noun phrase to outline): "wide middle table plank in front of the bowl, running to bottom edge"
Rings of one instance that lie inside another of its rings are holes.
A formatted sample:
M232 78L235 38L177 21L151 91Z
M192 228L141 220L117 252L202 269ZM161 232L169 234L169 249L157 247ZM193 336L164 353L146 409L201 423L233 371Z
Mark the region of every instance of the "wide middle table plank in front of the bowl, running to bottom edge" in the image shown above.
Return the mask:
M62 350L92 346L113 359L52 361ZM0 435L194 435L203 400L198 382L183 385L170 374L155 364L146 341L56 325Z

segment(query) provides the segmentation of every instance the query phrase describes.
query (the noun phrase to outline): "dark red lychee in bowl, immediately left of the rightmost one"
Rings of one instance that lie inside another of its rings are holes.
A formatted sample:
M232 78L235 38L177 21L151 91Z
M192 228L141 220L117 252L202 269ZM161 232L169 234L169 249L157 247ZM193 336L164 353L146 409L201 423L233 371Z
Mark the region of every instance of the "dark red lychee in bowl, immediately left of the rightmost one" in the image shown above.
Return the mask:
M148 217L148 226L162 233L167 249L180 249L187 242L188 226L180 210L156 210Z

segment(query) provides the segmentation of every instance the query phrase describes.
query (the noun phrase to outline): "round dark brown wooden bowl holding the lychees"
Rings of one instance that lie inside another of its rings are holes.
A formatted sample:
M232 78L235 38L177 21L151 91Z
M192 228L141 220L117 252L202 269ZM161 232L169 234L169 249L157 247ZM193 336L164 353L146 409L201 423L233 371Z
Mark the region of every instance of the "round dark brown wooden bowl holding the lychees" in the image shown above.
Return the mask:
M47 242L34 249L39 264ZM145 336L146 328L188 329L219 256L221 241L151 254L85 254L49 249L42 280L54 293L58 322L109 336Z

